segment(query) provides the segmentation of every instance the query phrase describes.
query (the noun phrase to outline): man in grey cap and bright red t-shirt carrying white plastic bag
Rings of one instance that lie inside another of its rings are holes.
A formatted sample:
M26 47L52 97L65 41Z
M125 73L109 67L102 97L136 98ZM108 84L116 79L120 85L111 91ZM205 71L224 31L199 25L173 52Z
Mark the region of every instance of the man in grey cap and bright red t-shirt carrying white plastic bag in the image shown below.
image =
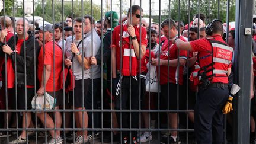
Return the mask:
M63 104L63 95L60 85L60 73L62 72L62 49L56 42L53 43L53 26L50 24L44 24L44 27L38 27L40 41L44 41L44 46L41 47L38 65L37 65L37 76L39 79L40 88L37 90L38 96L43 96L44 91L55 97L57 102L55 104L55 109L59 109L59 106ZM44 39L43 39L44 36ZM45 67L45 72L44 72ZM62 124L62 116L60 111L55 112L56 116L56 128L60 128ZM47 128L54 128L55 123L48 113L37 113L37 117L41 120L43 124L46 124ZM47 143L62 143L60 137L60 131L49 130L51 139Z

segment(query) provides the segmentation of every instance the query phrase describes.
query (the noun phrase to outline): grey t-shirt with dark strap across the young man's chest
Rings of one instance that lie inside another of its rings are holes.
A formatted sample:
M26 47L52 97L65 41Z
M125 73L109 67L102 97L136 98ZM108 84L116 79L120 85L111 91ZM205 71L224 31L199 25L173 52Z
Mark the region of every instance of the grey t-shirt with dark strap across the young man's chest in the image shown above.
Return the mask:
M84 37L84 36L83 36ZM76 40L75 36L73 36L73 42L78 45L81 40ZM71 43L72 43L72 36L67 37L66 39L66 46L65 46L65 54L68 59L72 59L72 52L71 52ZM85 38L84 43L79 44L78 50L82 53L82 44L84 44L84 57L91 57L91 40ZM72 71L75 76L75 80L81 79L88 79L90 78L90 69L85 69L78 61L77 57L73 57L73 66L71 66ZM82 73L84 72L84 73Z

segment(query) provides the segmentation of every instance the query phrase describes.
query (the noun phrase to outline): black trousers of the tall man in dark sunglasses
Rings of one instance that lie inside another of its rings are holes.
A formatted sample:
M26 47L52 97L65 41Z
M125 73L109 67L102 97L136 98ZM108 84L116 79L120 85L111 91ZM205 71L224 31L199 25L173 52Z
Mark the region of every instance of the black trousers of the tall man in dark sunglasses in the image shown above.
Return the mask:
M131 79L131 82L130 82ZM145 81L142 79L142 81ZM131 93L130 93L131 89ZM139 78L123 76L121 94L116 98L115 107L121 110L139 110ZM131 97L130 97L131 95ZM120 122L120 113L117 114ZM131 121L130 121L131 120ZM139 128L139 113L121 113L121 128ZM120 124L120 123L119 123ZM137 132L131 132L132 137L137 137ZM123 137L129 137L129 132L123 131Z

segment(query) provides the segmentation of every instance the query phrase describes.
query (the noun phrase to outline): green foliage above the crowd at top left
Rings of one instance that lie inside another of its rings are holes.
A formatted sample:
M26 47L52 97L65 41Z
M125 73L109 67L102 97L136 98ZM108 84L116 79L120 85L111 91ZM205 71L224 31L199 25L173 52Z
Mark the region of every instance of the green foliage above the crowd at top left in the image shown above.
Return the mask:
M100 7L97 5L92 4L92 11L91 11L91 1L86 0L83 1L83 10L81 1L73 1L73 11L72 11L72 1L54 1L46 0L44 4L42 2L38 2L34 11L34 15L43 17L43 6L44 6L44 20L52 23L53 18L55 22L62 21L62 13L63 13L63 20L66 17L73 15L73 17L82 17L82 15L92 15L96 20L99 20L101 17ZM62 9L63 7L63 9ZM54 11L53 11L54 9ZM82 14L83 12L83 14ZM53 17L54 13L54 17Z

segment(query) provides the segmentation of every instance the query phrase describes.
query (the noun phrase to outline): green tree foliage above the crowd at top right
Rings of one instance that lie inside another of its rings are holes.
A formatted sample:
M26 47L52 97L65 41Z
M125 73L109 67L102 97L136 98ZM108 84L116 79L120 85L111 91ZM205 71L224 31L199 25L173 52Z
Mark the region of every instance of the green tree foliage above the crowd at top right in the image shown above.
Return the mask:
M188 7L188 2L190 1L190 7ZM209 3L210 2L210 3ZM219 6L218 6L218 2ZM235 21L235 0L231 0L229 3L229 21ZM199 7L198 7L199 5ZM210 7L208 7L210 6ZM193 20L195 14L203 13L206 15L206 23L209 20L218 18L218 7L219 7L219 19L223 23L226 23L226 9L227 0L180 0L180 20L184 23L188 23ZM164 9L161 15L161 21L165 18L172 18L173 20L179 19L179 1L170 0L169 9ZM209 9L208 9L209 8ZM190 16L188 18L188 15ZM159 22L159 16L153 17L154 21Z

